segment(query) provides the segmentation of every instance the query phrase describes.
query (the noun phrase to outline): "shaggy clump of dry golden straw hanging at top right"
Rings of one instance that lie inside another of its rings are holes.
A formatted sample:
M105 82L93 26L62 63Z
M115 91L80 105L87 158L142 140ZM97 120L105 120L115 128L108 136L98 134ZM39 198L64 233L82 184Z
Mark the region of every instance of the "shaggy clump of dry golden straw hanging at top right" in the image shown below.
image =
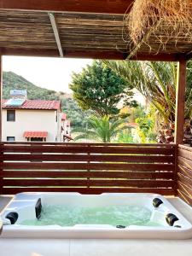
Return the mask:
M192 43L191 0L136 0L125 15L125 33L135 52L189 53Z

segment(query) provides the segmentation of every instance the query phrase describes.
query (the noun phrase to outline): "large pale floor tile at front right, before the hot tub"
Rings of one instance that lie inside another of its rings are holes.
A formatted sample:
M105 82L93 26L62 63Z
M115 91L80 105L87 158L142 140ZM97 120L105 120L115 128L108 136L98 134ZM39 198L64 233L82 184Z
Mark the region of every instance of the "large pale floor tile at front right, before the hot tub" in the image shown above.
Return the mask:
M184 252L184 254L183 254ZM192 240L72 240L70 256L191 256Z

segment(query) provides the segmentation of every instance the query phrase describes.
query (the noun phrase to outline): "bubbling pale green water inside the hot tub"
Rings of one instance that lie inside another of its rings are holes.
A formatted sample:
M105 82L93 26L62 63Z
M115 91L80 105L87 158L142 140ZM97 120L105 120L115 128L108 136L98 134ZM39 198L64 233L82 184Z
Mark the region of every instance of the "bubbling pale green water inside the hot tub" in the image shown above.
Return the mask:
M110 224L116 225L154 225L150 224L150 210L138 206L110 206L110 207L72 207L45 206L39 219L29 219L22 225L60 225L73 226L75 224Z

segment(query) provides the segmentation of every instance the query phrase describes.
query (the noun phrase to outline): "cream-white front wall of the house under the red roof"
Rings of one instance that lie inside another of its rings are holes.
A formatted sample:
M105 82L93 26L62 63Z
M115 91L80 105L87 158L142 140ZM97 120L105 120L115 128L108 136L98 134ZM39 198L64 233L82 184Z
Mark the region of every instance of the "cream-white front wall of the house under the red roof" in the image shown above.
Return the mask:
M58 114L58 122L55 116ZM48 131L47 142L55 142L55 137L60 134L59 113L55 110L15 110L15 122L7 121L7 109L2 111L3 141L7 137L15 137L15 141L26 141L24 131ZM60 137L60 136L59 136ZM57 139L57 142L60 138Z

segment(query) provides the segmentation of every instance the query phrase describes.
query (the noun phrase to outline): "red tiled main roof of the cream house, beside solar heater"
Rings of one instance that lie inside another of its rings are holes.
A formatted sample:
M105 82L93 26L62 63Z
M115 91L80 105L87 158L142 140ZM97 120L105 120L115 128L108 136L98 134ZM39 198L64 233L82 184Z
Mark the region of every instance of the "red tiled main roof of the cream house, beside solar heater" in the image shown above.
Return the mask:
M61 109L61 101L41 101L41 100L26 100L21 106L6 106L6 102L2 101L4 109L44 109L44 110L59 110Z

